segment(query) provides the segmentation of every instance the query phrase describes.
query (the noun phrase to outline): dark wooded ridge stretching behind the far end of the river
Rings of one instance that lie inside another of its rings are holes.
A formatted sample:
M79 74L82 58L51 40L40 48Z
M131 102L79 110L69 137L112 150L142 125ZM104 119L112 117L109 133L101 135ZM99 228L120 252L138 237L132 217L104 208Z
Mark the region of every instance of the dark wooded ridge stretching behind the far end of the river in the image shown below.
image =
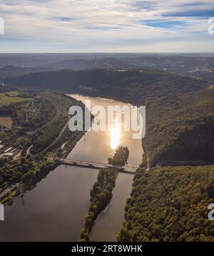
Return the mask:
M123 100L133 99L136 103L152 97L176 97L180 93L195 92L207 85L201 79L191 79L158 70L109 70L35 72L6 79L18 86L34 89L58 89L66 92L91 87L93 91L105 94L121 92ZM111 92L111 89L113 92ZM112 95L113 96L113 95Z

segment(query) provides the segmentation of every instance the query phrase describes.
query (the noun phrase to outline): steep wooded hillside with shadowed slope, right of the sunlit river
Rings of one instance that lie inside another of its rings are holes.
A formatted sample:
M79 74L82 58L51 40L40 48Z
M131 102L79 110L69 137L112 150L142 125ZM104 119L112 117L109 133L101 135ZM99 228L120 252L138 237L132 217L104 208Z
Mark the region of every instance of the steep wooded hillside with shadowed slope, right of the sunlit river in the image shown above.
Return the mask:
M150 164L214 162L213 102L214 90L206 88L149 108L145 144Z

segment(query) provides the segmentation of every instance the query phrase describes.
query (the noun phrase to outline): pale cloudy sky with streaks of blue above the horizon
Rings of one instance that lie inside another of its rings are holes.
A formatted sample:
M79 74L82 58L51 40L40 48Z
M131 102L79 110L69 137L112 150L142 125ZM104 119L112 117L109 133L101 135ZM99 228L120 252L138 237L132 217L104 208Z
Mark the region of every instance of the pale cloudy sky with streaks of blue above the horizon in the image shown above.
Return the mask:
M214 52L210 17L213 0L0 0L0 52Z

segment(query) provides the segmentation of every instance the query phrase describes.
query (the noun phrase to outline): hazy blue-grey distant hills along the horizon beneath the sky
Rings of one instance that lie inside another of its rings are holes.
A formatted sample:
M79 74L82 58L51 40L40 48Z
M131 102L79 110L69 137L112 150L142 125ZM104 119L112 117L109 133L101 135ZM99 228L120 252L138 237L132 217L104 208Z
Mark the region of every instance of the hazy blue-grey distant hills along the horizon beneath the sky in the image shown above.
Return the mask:
M214 84L212 54L0 54L0 77L61 69L159 69Z

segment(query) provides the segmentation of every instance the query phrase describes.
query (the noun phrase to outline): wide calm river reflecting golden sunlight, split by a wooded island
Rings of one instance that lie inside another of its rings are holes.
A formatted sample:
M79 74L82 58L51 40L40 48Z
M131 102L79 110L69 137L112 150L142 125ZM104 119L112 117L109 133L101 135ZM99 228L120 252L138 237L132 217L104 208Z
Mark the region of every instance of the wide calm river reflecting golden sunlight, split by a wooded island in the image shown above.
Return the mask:
M123 105L111 99L71 94L78 100L90 100L91 106ZM141 139L132 139L131 132L86 132L85 137L68 154L68 159L107 162L116 147L130 150L128 164L138 166L142 160ZM17 197L13 205L5 205L5 220L0 222L0 241L78 241L90 206L90 189L98 170L59 166L36 187ZM91 232L91 241L116 241L124 220L124 207L130 195L132 174L120 173L113 189L111 205L101 212Z

